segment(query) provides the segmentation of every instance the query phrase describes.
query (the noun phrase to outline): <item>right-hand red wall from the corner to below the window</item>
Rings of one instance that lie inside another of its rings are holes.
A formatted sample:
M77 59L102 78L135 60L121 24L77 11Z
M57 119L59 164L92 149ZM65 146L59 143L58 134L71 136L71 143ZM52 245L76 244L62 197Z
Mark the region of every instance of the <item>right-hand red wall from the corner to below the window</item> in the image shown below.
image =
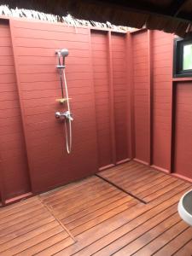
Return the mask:
M173 38L160 31L131 33L133 157L192 181L192 79L172 78Z

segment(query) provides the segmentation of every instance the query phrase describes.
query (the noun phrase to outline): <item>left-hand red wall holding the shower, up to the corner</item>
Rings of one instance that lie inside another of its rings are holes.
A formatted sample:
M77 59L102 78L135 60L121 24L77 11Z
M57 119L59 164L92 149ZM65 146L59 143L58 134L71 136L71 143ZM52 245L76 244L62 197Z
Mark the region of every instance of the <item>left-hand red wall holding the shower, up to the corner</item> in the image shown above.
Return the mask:
M15 19L1 24L3 204L127 160L126 142L119 136L120 129L128 140L126 121L119 119L118 110L128 85L122 55L126 38L113 34L120 51L113 45L112 56L111 32ZM55 111L65 109L55 102L61 97L55 50L61 48L69 49L66 73L74 117L70 155L63 125L55 119Z

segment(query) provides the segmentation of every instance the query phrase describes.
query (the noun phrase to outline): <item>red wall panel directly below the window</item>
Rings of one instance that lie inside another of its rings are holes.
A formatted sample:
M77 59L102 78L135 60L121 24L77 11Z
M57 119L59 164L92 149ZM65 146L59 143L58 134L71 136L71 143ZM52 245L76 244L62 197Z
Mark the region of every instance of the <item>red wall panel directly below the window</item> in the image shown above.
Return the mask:
M174 172L192 179L192 82L177 83Z

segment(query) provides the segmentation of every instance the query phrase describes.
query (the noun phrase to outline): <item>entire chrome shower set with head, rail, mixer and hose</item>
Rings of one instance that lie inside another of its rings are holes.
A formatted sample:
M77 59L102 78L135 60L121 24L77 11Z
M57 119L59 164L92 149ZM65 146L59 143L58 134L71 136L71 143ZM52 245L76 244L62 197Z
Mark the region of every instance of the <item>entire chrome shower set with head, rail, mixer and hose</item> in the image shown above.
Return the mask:
M57 102L61 104L65 104L67 102L67 111L64 112L55 112L56 119L63 119L65 126L65 134L66 134L66 147L67 153L70 154L72 150L72 113L70 111L70 103L68 97L68 89L67 89L67 80L65 73L65 57L68 55L68 49L59 49L56 50L56 54L58 55L58 65L56 66L60 73L60 82L61 82L61 98L57 99ZM65 86L66 96L64 96L63 84Z

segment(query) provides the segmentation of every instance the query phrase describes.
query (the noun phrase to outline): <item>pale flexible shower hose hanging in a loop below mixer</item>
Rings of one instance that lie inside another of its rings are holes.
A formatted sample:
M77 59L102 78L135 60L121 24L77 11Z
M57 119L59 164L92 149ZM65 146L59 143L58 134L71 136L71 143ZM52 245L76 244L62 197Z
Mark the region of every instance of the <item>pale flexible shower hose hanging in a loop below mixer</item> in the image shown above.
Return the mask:
M72 151L72 119L71 119L71 111L70 111L70 104L69 104L69 98L68 98L68 89L67 89L67 80L66 80L66 72L65 68L63 68L63 79L65 84L65 90L66 90L66 97L67 97L67 111L69 114L69 118L65 119L65 133L66 133L66 148L67 153L70 154ZM67 129L67 120L68 120L68 129Z

